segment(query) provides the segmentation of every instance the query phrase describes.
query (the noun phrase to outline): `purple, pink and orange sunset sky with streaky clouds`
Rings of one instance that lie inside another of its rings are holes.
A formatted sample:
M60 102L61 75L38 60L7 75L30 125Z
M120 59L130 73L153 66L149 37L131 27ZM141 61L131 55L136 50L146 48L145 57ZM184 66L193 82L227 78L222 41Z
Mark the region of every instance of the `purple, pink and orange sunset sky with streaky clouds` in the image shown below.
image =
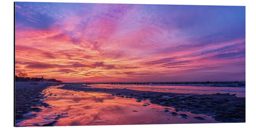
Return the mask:
M245 81L245 7L15 2L15 74Z

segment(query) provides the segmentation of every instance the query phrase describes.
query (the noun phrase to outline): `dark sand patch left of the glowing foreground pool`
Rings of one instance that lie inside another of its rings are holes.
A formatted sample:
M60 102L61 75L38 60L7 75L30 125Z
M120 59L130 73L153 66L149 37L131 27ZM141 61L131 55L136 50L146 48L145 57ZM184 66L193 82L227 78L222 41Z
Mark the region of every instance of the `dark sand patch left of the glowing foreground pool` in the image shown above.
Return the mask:
M49 104L42 102L44 94L42 90L58 83L46 82L15 82L15 126L16 123L24 119L30 119L36 116L31 112L40 112L38 106L49 107Z

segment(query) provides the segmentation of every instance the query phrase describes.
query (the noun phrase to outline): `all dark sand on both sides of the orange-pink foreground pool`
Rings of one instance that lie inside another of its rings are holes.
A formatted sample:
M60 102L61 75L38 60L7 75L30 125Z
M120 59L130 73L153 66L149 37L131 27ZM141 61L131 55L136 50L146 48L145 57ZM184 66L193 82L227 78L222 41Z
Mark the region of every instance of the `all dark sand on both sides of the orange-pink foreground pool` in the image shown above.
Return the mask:
M47 82L16 82L15 83L15 126L18 122L34 118L40 112L40 107L49 108L49 104L42 101L46 98L42 91L50 86L62 83ZM190 112L211 116L220 122L245 122L245 98L229 94L177 94L151 91L136 91L130 89L92 88L83 84L65 84L58 89L106 93L109 96L134 98L137 102L149 100L152 104L170 106L176 112ZM53 94L54 95L54 94ZM144 104L147 105L147 104ZM168 110L165 110L168 112ZM169 112L170 113L170 112ZM177 113L172 112L172 115ZM184 117L186 115L183 115ZM195 118L195 117L194 117ZM204 120L203 117L196 117Z

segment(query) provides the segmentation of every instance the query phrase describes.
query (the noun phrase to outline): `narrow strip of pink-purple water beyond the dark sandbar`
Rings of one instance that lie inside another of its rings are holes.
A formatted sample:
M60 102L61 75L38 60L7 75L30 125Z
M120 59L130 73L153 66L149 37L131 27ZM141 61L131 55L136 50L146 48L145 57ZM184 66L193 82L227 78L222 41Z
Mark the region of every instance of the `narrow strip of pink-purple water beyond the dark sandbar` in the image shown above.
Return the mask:
M244 87L197 87L197 86L138 86L138 85L110 85L110 84L91 84L91 87L108 89L131 89L138 91L183 93L183 94L216 94L229 93L236 94L237 97L245 97Z

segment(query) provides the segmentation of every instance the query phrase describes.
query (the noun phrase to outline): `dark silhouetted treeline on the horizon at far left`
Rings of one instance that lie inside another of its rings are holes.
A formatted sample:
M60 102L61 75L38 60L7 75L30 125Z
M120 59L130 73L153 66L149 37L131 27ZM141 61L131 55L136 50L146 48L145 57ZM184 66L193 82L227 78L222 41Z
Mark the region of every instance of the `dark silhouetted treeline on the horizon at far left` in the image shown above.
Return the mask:
M62 82L56 79L44 79L44 78L30 78L30 77L18 77L15 75L15 81L36 81L36 82Z

